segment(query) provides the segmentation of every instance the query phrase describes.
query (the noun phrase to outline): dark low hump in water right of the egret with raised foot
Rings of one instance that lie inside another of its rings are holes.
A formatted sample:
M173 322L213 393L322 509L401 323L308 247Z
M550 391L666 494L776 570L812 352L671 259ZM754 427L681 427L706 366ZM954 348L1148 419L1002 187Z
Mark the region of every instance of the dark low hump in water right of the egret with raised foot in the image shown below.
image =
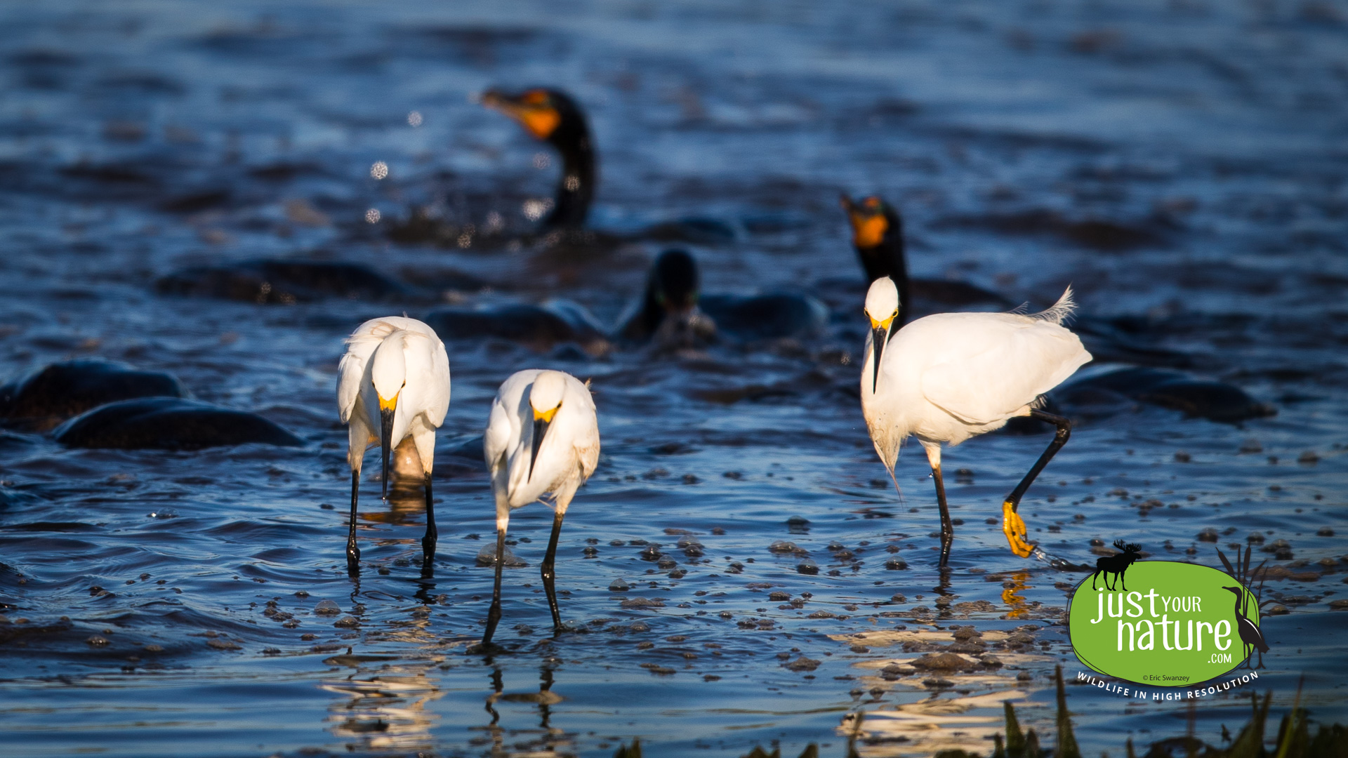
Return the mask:
M1054 390L1050 397L1069 409L1108 407L1115 398L1127 398L1227 424L1278 413L1233 384L1198 379L1182 371L1136 366L1077 379Z

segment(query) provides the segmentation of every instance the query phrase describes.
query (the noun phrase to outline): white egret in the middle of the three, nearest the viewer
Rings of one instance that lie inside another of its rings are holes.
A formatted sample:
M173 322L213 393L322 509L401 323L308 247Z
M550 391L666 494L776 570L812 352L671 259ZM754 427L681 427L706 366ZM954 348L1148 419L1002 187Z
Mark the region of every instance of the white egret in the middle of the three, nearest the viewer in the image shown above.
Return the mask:
M501 620L501 568L510 513L551 494L553 535L543 554L543 591L553 611L553 630L562 630L557 610L557 537L576 490L599 464L599 418L589 390L570 374L530 368L507 379L492 401L483 433L483 453L496 495L496 584L483 645ZM547 503L545 503L547 504Z

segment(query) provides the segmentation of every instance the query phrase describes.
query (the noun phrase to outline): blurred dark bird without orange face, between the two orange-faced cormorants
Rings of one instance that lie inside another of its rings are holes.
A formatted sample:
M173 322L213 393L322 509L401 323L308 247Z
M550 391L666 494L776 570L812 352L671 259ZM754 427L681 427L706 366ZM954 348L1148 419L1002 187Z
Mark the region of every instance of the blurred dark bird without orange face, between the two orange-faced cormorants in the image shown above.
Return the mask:
M685 250L656 256L636 308L617 337L666 348L700 347L718 334L735 341L803 337L828 322L820 301L795 293L701 294L697 260Z

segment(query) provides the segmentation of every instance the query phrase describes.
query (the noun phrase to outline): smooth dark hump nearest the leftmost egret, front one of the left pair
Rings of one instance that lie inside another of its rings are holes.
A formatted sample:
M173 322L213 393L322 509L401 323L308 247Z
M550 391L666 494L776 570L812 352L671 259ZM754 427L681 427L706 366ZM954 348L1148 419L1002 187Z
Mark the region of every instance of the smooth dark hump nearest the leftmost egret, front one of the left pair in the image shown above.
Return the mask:
M96 407L61 425L71 448L197 450L220 445L298 446L305 441L266 418L182 398L140 398Z

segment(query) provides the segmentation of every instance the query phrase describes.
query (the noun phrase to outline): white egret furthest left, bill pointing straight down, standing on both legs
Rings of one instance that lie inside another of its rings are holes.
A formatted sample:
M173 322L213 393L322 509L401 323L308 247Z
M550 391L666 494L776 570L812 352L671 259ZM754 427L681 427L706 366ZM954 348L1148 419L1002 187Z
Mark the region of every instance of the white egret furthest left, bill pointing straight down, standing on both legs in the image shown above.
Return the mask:
M350 464L350 531L346 569L360 568L356 548L356 499L365 449L379 444L383 498L388 499L388 455L407 437L421 457L426 482L426 535L423 571L435 557L435 504L430 472L435 459L435 429L449 410L449 356L430 326L403 316L371 318L346 339L346 355L337 366L337 410L348 425L346 463Z

